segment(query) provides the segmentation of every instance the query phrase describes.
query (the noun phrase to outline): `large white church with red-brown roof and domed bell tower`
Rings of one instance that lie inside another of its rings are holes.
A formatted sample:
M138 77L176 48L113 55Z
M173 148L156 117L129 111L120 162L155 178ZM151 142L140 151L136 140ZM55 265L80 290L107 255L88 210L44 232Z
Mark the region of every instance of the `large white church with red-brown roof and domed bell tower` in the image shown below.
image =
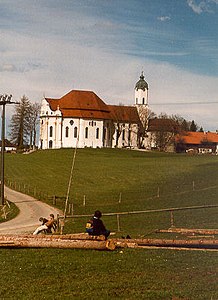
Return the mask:
M41 149L138 148L140 111L148 109L143 72L133 106L108 105L92 91L72 90L60 99L44 98L40 112Z

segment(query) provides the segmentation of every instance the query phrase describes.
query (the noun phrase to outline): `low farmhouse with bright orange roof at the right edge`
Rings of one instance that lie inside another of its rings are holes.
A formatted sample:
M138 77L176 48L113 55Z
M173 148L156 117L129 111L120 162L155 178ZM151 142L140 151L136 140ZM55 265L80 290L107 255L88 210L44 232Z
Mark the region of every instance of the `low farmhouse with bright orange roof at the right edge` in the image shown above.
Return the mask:
M176 151L218 154L217 132L185 132L176 137Z

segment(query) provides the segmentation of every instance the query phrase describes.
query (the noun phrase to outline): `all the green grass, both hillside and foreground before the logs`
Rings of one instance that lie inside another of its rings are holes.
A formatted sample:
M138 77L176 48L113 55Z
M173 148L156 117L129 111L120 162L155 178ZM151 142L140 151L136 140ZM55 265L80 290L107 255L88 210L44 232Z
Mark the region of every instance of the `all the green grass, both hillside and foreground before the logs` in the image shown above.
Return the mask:
M73 151L7 154L6 179L16 182L16 188L28 186L30 193L40 191L48 203L53 195L59 196L57 205L63 209ZM216 205L217 195L216 156L79 149L70 202L74 213L92 214L96 209L109 213ZM217 213L217 208L177 211L174 222L177 227L217 228ZM170 226L169 212L121 216L120 232L115 216L103 220L118 237L163 237L155 229ZM69 219L65 231L84 231L85 222L86 218ZM217 252L0 249L0 253L1 299L218 299Z

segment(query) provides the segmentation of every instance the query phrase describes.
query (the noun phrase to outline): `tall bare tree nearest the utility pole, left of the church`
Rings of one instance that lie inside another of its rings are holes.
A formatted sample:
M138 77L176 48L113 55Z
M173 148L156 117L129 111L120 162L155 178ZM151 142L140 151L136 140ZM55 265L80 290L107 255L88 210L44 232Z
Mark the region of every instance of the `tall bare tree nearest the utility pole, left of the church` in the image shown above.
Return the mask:
M15 106L15 112L11 117L10 140L18 149L24 148L29 141L29 121L30 121L31 105L29 99L24 95L20 99L20 103Z

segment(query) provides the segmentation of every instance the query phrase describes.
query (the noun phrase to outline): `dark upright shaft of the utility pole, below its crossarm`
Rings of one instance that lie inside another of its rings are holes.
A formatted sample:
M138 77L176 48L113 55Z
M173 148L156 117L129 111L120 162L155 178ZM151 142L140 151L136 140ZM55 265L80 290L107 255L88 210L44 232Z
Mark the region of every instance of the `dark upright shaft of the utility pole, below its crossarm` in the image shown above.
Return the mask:
M5 104L2 104L2 147L1 147L1 205L4 205L5 191L5 163L4 163L4 150L5 150Z

